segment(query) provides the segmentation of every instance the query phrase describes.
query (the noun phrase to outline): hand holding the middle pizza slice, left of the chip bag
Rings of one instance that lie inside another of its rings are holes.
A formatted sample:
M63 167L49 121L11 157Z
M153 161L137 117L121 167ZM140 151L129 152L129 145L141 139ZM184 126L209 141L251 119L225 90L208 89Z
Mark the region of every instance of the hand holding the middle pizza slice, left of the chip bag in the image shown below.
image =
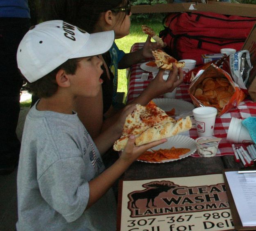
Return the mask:
M164 93L172 92L183 82L183 71L173 64L173 71L170 71L167 80L163 80L164 70L160 69L156 77L147 86L147 94L156 98ZM179 76L179 78L177 78Z

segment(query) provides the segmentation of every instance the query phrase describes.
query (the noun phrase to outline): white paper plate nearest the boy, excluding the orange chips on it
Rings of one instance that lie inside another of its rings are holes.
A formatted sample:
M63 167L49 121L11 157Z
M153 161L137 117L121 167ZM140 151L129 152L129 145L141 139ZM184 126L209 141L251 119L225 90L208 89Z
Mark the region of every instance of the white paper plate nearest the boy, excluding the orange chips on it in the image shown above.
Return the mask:
M192 138L185 136L185 135L174 135L172 137L169 137L169 138L167 138L167 142L165 142L163 144L159 144L156 147L153 147L152 150L171 149L172 147L190 149L190 151L188 153L185 153L184 155L180 155L179 159L169 159L169 160L163 160L161 162L149 162L149 161L145 161L145 160L137 160L137 161L153 163L153 164L171 162L171 161L181 160L183 158L186 158L186 157L192 155L197 150L197 145L196 145L195 140L193 140ZM151 151L151 149L149 149L147 151Z

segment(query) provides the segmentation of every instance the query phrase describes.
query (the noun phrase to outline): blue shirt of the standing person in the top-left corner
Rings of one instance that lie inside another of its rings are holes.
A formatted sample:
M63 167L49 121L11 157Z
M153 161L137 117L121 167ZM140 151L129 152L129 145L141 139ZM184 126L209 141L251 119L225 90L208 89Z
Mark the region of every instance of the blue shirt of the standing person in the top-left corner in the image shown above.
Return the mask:
M30 18L27 0L0 0L0 18Z

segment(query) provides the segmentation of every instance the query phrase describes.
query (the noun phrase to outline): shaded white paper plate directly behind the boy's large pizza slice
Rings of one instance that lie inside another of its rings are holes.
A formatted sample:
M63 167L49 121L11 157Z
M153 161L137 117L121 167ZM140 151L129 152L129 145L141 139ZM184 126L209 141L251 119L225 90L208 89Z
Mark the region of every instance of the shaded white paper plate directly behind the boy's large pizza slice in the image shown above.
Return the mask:
M157 107L160 107L163 111L170 111L175 108L175 115L180 115L185 112L192 111L195 106L184 100L170 99L170 98L156 98L153 99Z

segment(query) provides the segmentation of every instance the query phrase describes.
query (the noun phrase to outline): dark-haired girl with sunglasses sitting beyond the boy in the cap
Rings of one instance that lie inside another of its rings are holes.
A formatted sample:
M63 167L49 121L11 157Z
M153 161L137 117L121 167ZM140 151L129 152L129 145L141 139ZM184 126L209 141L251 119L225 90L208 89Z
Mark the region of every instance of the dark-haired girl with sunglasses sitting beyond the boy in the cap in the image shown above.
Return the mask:
M43 0L41 1L42 20L64 20L71 24L95 33L100 31L115 31L115 39L120 39L129 34L131 2L130 0ZM80 120L93 138L97 137L100 130L111 126L118 118L120 109L124 106L116 102L118 69L126 69L139 63L145 58L151 58L152 50L161 49L159 45L150 41L148 36L142 49L125 53L118 49L116 43L109 52L102 55L104 73L102 79L102 95L95 98L77 99L77 111ZM177 73L179 72L179 80ZM147 104L153 98L172 91L183 80L181 69L174 69L165 82L162 76L164 71L150 82L148 87L132 103ZM103 107L102 107L103 105ZM104 122L103 116L104 115Z

